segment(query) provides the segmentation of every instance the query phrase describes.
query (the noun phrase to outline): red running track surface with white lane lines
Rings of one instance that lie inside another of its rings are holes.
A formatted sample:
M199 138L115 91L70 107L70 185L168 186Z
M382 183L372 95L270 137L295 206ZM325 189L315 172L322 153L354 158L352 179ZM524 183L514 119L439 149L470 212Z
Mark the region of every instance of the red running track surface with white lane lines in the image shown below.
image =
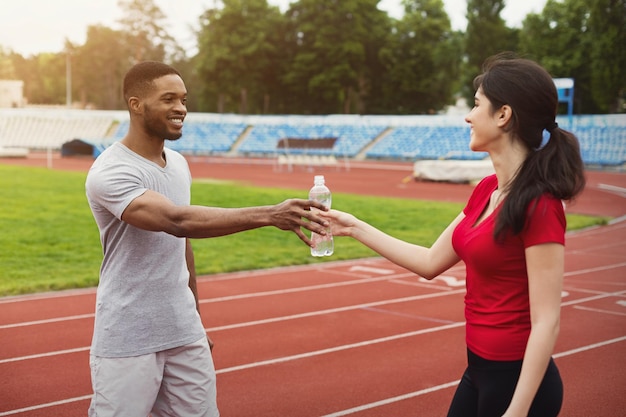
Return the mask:
M2 163L44 165L45 159ZM53 161L85 170L91 161ZM333 191L464 201L471 187L407 180L410 164L325 169ZM318 171L320 172L320 171ZM192 161L194 177L306 190L313 172ZM626 175L590 172L568 210L626 215ZM620 192L621 189L621 192ZM567 237L563 416L626 409L626 221ZM306 250L306 248L301 248ZM431 282L383 259L203 277L224 417L443 416L465 365L463 267ZM0 299L0 416L84 416L95 290Z

